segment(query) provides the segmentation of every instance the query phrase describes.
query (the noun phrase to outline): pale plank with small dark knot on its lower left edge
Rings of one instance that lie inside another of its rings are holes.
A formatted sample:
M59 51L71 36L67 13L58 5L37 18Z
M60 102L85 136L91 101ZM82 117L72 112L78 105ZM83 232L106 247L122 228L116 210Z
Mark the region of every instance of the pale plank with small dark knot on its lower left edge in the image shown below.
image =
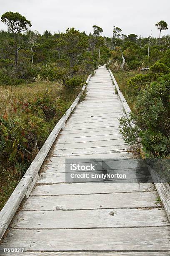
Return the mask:
M29 197L22 210L55 211L57 205L63 210L158 207L154 201L157 197L157 192L124 193L123 197L121 193Z

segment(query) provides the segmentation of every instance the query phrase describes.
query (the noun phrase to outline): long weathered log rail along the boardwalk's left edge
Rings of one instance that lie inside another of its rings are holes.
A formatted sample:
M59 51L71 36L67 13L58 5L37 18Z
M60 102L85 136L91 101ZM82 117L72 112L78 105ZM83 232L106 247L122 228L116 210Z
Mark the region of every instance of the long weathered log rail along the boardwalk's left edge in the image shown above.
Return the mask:
M62 116L62 118L55 125L54 129L48 136L44 145L42 146L38 154L35 156L35 159L30 164L30 167L25 172L23 178L20 180L12 195L6 202L5 206L0 211L0 240L4 235L5 231L7 230L11 220L13 219L15 212L18 210L20 203L23 201L24 198L28 198L28 196L30 195L35 185L35 182L39 177L38 172L40 170L40 167L42 166L43 161L45 160L45 157L50 151L50 148L54 143L55 139L57 138L58 133L63 128L65 122L72 113L72 110L74 110L74 108L77 106L82 93L85 91L86 86L89 83L91 75L92 74L88 76L86 83L82 87L81 92L78 94L70 108L68 108L68 110Z

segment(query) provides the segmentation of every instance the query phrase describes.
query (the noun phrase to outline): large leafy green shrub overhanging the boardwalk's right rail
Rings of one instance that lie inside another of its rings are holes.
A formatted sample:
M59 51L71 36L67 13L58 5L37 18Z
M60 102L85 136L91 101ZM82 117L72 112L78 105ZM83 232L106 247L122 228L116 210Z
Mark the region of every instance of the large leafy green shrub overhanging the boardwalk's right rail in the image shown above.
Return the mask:
M170 74L139 92L130 118L121 118L126 143L140 143L147 156L170 155ZM132 125L133 124L133 125Z

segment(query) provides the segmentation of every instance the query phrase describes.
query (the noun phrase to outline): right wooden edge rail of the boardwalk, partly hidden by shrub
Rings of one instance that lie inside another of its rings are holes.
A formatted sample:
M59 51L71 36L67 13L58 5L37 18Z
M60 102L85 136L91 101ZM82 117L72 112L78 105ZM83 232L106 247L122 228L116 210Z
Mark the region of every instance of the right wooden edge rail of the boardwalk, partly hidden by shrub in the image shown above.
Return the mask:
M127 117L129 117L131 109L130 109L128 103L126 102L125 97L123 96L122 92L120 91L119 86L118 86L116 79L113 76L111 70L110 69L108 69L108 70L110 72L112 80L117 89L117 93L120 97L120 100L122 102L125 113L126 113ZM160 178L160 176L153 169L151 169L150 167L149 167L149 169L150 169L150 174L154 181L155 187L160 196L160 199L163 202L163 206L165 208L165 212L167 214L168 220L170 221L170 185L164 179Z

